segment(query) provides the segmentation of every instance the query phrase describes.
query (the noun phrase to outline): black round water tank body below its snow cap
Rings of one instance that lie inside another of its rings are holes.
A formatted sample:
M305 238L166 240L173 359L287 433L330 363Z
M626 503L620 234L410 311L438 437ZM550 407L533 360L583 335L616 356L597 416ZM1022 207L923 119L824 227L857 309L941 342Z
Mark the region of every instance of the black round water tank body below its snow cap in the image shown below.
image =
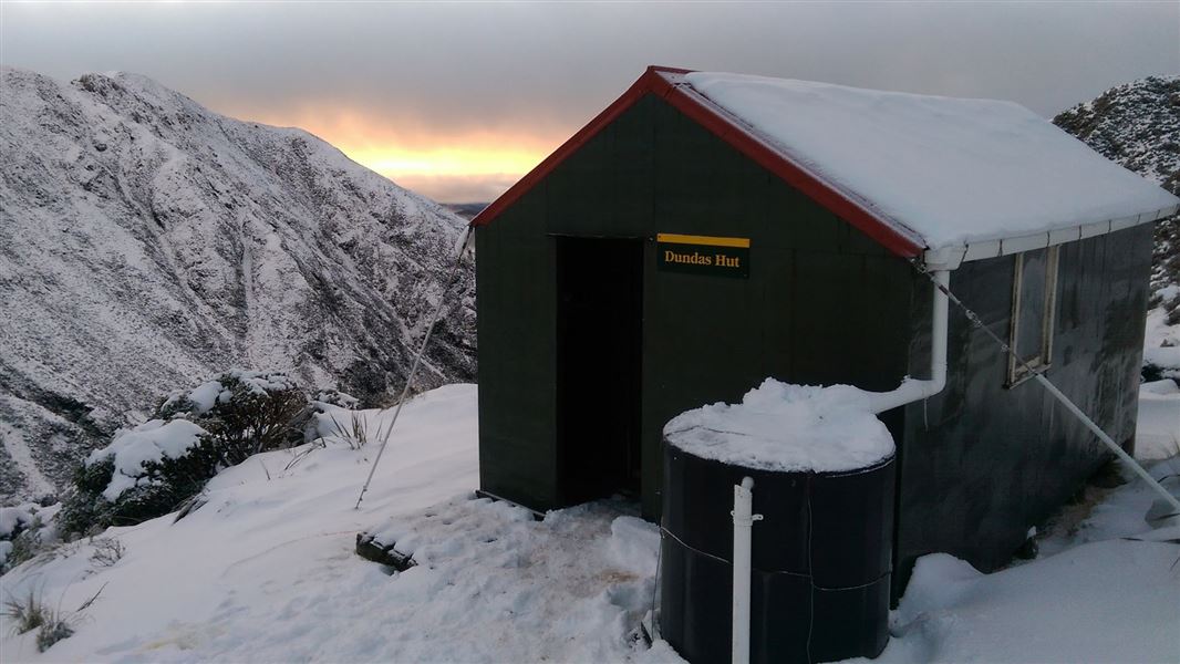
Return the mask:
M664 447L660 630L730 660L734 485L754 479L750 662L876 657L889 640L893 456L843 472L745 468Z

